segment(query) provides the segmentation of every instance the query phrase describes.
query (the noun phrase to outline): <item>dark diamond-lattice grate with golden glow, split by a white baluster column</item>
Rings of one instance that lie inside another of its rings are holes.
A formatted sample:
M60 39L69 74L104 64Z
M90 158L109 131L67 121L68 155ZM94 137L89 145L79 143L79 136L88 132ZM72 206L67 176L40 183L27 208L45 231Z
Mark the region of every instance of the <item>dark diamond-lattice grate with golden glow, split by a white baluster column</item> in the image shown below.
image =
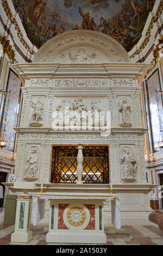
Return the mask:
M52 183L77 182L77 146L54 146L52 150ZM83 147L83 182L109 183L109 151L103 146Z

